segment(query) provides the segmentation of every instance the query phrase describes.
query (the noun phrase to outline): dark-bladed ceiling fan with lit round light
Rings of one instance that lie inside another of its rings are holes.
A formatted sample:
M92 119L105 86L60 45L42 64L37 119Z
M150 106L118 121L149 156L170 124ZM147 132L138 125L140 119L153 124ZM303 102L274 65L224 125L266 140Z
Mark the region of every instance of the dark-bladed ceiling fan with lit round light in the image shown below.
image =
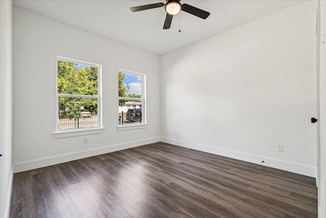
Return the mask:
M181 5L180 0L166 0L166 1L167 1L166 4L155 3L155 4L150 4L150 5L142 5L142 6L137 6L137 7L131 7L130 10L132 12L136 12L136 11L143 11L143 10L160 8L160 7L165 6L167 16L165 18L165 22L164 22L164 26L163 26L164 30L170 29L173 15L179 13L180 11L187 12L189 14L195 15L202 19L206 19L210 14L207 11L201 10L199 8L196 8L196 7L188 5L188 4Z

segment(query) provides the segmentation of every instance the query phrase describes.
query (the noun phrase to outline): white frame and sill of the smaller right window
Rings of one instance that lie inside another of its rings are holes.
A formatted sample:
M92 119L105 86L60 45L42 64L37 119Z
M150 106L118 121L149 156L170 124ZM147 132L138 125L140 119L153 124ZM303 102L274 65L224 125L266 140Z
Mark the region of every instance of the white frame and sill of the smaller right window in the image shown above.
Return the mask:
M119 131L123 130L131 130L131 129L143 129L147 128L147 116L146 116L146 74L145 73L139 73L139 72L134 72L130 70L124 70L124 69L119 69L118 72L122 73L129 73L129 74L136 74L136 75L141 75L142 76L142 98L128 98L128 97L119 97L118 96L118 102L119 100L141 100L142 101L142 122L140 124L124 124L124 125L118 125L117 129Z

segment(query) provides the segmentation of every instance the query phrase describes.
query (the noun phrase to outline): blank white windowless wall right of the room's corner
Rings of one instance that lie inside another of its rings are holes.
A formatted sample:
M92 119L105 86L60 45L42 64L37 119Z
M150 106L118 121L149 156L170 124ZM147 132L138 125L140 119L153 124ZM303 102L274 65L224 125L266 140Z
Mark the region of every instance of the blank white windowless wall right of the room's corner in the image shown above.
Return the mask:
M162 56L162 141L315 176L316 5Z

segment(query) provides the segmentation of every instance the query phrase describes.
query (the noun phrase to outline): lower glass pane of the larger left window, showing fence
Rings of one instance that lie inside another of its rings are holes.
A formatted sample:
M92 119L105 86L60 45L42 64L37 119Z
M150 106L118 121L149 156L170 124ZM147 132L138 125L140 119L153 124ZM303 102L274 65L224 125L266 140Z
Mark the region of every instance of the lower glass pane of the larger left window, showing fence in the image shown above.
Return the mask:
M58 129L97 127L97 98L59 97Z

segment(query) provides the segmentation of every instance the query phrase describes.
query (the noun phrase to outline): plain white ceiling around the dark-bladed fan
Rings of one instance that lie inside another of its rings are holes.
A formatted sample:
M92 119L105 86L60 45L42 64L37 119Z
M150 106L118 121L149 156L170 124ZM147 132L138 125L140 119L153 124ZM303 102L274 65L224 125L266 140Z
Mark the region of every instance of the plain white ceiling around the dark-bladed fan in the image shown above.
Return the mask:
M181 4L208 11L210 15L203 20L181 11L173 17L169 30L163 30L166 16L164 8L139 12L129 10L130 7L160 2L165 3L165 0L14 0L13 4L108 39L164 55L304 1L181 0Z

